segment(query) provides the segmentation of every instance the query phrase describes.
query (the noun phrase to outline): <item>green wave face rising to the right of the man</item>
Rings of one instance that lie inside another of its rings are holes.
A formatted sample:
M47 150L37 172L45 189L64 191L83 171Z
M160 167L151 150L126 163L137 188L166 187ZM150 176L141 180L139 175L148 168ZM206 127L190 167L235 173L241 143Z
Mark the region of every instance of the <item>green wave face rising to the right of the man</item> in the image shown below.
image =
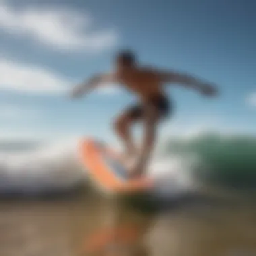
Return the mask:
M170 141L168 153L195 154L199 164L193 171L210 183L256 190L256 137L201 135L189 140Z

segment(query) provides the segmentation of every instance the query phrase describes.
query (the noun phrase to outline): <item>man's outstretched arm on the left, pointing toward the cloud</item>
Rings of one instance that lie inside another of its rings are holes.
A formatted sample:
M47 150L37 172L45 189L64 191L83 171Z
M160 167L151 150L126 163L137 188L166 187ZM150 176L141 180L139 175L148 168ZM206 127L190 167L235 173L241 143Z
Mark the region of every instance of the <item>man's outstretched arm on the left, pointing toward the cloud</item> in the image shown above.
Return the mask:
M82 84L78 84L71 91L71 97L76 98L78 96L82 96L83 94L88 94L95 88L97 88L100 84L115 82L115 75L113 74L104 74L104 75L95 75L87 82L83 82Z

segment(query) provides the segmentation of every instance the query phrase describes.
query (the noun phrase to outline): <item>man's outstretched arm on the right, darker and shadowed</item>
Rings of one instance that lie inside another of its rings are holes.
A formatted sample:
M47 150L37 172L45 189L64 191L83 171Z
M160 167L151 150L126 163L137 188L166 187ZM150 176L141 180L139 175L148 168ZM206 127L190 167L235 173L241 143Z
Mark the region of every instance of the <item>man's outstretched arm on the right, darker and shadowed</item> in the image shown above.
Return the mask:
M212 95L216 94L217 89L214 85L204 82L201 79L197 79L192 75L188 75L185 73L178 73L178 72L160 72L160 79L162 82L165 83L177 83L188 88L193 88L199 90L203 94Z

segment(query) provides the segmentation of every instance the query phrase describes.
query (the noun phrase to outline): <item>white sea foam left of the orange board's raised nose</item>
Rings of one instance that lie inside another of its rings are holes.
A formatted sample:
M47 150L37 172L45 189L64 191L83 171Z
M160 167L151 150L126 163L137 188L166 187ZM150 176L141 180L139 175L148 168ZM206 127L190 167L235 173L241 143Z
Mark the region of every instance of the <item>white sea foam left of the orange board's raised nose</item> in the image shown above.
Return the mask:
M29 152L1 152L2 192L44 192L69 189L84 179L77 141L56 143Z

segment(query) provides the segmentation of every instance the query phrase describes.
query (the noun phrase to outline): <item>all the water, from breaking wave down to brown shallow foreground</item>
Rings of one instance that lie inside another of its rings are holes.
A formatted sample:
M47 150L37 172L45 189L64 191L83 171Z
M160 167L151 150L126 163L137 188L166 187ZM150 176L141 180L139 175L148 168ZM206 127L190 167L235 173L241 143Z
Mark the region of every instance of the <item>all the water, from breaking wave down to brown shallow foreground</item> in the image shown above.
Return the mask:
M142 201L131 207L106 199L92 189L68 197L89 184L78 142L1 144L1 256L256 255L255 138L166 139L147 172L159 185L152 192L171 202L157 211L145 211ZM174 203L190 189L203 197ZM65 193L40 197L56 192ZM22 197L4 198L13 193ZM109 237L119 228L125 234L135 230L133 240L99 243L104 230Z

